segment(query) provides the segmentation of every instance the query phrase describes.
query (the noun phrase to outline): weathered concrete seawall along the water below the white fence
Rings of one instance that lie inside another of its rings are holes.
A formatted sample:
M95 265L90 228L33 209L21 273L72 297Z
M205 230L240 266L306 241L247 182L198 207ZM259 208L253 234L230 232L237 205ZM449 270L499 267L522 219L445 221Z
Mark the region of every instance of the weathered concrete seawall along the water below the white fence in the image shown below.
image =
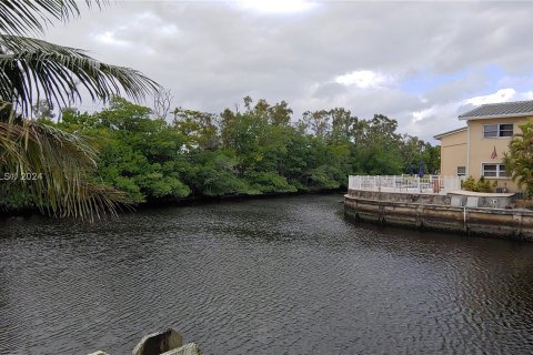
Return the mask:
M533 242L533 212L451 206L450 196L353 191L344 213L356 221Z

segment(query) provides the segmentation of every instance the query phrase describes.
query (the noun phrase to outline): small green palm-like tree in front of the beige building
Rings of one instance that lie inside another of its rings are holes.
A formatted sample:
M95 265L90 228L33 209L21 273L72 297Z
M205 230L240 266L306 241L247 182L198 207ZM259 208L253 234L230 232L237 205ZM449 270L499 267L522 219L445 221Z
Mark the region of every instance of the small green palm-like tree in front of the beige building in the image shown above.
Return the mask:
M520 126L517 133L509 143L509 152L503 162L507 174L519 186L525 189L529 197L533 196L533 121Z

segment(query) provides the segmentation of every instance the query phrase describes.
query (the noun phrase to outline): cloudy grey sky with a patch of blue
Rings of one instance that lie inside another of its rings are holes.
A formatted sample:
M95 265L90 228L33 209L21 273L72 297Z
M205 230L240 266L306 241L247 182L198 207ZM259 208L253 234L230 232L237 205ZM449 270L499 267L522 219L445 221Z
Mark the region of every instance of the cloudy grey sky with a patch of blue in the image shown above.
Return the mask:
M434 142L474 105L533 99L532 13L529 2L115 0L44 39L142 71L173 106L221 112L251 95L288 101L295 120L343 106Z

